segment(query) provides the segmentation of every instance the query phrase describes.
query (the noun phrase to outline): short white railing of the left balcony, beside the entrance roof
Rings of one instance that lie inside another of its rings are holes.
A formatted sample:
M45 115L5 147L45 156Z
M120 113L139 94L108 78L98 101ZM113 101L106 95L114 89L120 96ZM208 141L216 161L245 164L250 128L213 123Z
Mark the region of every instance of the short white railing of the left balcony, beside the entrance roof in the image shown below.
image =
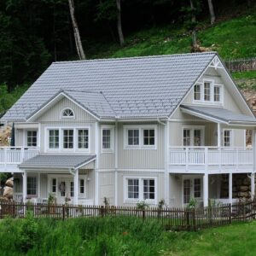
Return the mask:
M20 164L39 153L39 148L0 147L0 164Z

